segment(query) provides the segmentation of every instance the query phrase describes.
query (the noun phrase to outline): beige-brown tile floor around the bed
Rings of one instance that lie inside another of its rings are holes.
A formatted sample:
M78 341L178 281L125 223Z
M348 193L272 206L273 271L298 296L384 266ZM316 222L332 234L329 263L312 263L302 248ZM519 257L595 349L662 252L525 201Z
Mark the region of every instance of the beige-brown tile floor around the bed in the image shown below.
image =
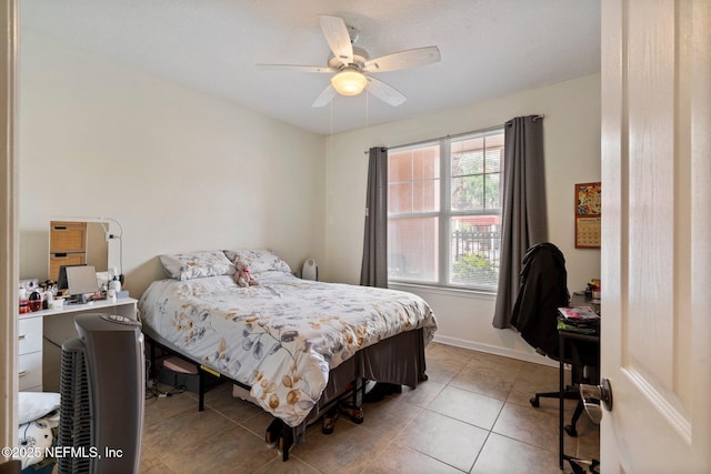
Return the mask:
M202 413L192 393L148 400L141 473L560 473L558 400L529 404L557 390L555 367L439 343L427 363L417 390L363 404L362 424L341 417L331 435L312 425L286 463L263 442L271 417L229 384L206 395ZM565 451L599 458L598 426L583 415L578 431Z

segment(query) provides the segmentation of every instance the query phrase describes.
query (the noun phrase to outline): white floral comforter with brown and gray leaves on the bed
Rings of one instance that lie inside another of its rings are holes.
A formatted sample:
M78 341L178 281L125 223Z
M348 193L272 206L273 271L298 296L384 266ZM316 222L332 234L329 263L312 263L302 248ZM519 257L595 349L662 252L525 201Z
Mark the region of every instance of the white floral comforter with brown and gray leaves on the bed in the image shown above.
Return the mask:
M156 281L139 310L148 335L250 385L291 426L319 401L329 371L358 350L420 327L428 343L437 330L417 295L289 273L249 288L230 275Z

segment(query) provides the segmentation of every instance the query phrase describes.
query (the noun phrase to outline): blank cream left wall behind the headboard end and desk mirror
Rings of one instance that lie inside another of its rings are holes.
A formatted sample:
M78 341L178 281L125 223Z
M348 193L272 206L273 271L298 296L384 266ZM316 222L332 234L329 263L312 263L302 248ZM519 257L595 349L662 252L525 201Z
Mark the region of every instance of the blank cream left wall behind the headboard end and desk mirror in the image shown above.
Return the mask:
M161 253L323 260L322 137L31 32L20 58L21 278L47 278L56 215L121 221L136 296Z

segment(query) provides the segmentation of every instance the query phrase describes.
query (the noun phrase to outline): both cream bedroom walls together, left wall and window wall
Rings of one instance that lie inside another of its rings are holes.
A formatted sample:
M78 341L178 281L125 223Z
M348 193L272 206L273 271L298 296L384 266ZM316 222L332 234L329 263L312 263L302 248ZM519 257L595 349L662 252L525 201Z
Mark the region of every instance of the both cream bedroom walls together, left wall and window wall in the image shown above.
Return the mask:
M549 236L569 288L600 275L600 252L573 242L573 185L600 180L599 74L323 139L38 34L22 40L21 278L47 275L52 216L107 215L123 224L136 296L162 276L158 255L200 249L271 246L294 269L314 256L323 280L358 283L365 150L533 113L545 115ZM493 296L412 291L434 309L439 340L540 362L491 326Z

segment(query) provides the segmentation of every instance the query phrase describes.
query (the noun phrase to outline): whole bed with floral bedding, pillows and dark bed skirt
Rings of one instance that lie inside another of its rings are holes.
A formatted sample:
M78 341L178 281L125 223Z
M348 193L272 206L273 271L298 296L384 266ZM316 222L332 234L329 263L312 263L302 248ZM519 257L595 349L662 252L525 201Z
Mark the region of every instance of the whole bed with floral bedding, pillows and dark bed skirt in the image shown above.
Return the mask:
M169 278L139 301L149 342L249 387L298 444L307 423L359 380L414 389L425 379L437 321L417 295L301 280L269 250L160 260ZM237 283L244 268L259 284Z

